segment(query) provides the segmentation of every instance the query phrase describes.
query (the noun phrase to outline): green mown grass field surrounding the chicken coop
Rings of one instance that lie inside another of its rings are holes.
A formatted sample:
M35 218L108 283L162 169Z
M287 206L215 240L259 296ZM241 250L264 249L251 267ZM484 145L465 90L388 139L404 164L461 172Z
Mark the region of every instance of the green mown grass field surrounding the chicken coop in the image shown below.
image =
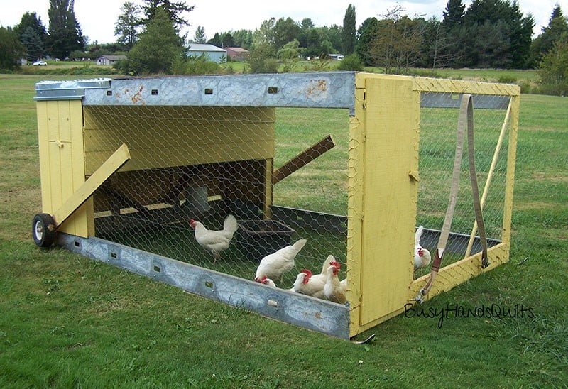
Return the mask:
M35 247L30 229L40 212L40 182L33 84L46 78L0 75L2 388L542 388L568 382L567 99L521 98L510 262L422 306L425 314L491 307L493 315L449 314L440 322L408 312L362 334L377 337L361 346L58 248Z

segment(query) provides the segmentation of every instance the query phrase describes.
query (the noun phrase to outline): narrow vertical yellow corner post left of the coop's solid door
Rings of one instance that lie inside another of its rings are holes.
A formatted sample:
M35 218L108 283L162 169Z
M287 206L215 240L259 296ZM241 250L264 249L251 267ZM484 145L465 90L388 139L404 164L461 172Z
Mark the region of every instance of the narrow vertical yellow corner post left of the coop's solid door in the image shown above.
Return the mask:
M361 73L356 80L363 78ZM364 82L362 82L364 86ZM349 336L359 334L361 316L361 243L363 229L365 88L355 89L355 115L349 118L347 185L347 301Z

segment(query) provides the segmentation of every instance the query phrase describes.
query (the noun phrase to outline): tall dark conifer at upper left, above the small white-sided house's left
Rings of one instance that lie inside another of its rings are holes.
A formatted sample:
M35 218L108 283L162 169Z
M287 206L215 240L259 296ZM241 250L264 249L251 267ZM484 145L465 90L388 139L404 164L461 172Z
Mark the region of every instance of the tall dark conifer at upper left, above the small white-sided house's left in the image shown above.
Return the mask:
M50 0L48 51L54 57L66 58L73 50L84 50L74 4L75 0Z

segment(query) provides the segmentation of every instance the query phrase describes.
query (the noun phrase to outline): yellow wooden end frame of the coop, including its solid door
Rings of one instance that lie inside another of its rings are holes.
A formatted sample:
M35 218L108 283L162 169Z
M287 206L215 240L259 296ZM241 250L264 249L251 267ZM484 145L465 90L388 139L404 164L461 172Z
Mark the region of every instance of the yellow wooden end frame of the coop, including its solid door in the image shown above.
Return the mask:
M441 268L425 300L508 261L520 88L358 73L355 114L349 123L350 336L403 312L406 304L415 302L428 278L413 280L410 259L401 260L413 257L422 92L511 97L502 243L488 251L488 268L481 269L479 253Z

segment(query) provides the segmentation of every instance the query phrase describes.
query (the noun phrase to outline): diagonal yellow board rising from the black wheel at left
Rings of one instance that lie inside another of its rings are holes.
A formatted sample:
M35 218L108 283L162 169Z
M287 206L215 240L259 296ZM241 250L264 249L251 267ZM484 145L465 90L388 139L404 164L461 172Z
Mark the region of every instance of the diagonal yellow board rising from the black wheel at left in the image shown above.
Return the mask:
M57 211L53 213L53 219L56 224L62 224L70 215L77 210L87 199L93 194L98 187L106 181L112 173L119 170L127 160L129 160L129 149L126 145L118 148L111 157L106 160L91 177L87 179L80 187L66 197L65 202Z

